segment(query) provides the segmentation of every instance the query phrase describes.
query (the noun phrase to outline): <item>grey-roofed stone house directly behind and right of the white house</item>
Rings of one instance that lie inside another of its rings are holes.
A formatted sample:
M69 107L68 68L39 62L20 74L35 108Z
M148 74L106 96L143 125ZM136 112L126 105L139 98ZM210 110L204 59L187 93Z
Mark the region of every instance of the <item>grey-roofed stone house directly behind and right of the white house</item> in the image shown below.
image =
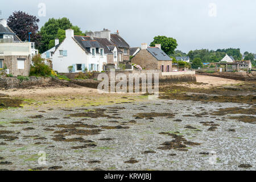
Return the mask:
M118 65L119 62L130 60L130 46L118 31L111 34L110 30L104 28L102 31L88 32L86 35L92 40L97 40L104 47L108 64Z

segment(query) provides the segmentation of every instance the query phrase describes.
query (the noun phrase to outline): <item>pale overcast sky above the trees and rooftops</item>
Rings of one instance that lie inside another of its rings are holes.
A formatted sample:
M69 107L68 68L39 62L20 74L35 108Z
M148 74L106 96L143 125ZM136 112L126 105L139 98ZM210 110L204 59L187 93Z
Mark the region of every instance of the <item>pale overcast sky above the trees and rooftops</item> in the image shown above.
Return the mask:
M46 16L39 17L39 3ZM118 30L131 47L165 35L186 53L230 47L256 53L255 7L255 0L1 0L0 18L26 11L42 27L49 18L67 17L82 31Z

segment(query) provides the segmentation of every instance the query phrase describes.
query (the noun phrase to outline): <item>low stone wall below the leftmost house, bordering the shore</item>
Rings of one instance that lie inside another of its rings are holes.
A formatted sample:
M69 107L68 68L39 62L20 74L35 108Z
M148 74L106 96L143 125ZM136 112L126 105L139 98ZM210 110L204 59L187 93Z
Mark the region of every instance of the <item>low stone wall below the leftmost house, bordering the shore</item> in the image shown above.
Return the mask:
M36 86L36 85L44 85L51 81L52 78L49 77L29 77L29 80L20 81L18 78L15 77L0 77L0 89L14 89L14 88L26 88L29 86Z

